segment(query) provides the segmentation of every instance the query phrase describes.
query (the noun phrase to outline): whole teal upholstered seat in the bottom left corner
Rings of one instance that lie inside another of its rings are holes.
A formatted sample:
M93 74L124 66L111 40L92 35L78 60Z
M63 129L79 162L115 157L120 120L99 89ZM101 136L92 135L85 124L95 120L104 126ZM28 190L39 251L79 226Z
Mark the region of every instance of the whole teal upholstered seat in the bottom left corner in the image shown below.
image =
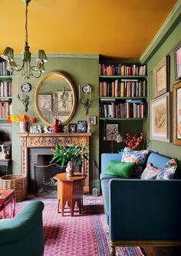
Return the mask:
M31 201L14 218L0 220L0 255L43 255L43 209L41 201Z

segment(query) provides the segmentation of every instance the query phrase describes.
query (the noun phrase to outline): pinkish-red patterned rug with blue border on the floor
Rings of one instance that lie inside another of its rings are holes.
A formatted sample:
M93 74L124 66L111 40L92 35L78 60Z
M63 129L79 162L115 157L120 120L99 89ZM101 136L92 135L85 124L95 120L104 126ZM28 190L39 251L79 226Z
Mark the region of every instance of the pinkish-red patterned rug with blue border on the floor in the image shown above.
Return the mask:
M110 256L109 235L102 197L84 196L84 213L75 207L74 217L65 207L58 214L55 198L37 198L44 202L44 256ZM17 203L17 211L27 201ZM141 256L140 248L117 248L119 256Z

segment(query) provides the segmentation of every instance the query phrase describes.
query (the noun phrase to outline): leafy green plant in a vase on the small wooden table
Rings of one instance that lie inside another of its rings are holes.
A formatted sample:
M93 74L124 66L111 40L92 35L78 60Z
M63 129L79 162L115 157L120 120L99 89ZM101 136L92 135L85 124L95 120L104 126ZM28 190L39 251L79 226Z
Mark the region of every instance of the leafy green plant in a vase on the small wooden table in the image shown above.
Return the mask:
M54 152L51 163L60 163L61 168L64 167L64 165L67 165L67 177L74 175L74 164L80 160L87 160L89 156L89 151L85 144L82 146L76 144L62 146L61 143L57 143L51 150Z

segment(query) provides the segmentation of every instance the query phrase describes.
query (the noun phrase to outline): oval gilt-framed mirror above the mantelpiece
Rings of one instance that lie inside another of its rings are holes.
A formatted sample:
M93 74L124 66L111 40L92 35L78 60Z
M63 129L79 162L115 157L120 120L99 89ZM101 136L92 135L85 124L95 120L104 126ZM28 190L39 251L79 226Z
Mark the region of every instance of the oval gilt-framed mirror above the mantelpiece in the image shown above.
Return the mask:
M61 72L50 72L38 83L35 106L41 120L48 126L54 120L64 125L74 114L76 93L71 80Z

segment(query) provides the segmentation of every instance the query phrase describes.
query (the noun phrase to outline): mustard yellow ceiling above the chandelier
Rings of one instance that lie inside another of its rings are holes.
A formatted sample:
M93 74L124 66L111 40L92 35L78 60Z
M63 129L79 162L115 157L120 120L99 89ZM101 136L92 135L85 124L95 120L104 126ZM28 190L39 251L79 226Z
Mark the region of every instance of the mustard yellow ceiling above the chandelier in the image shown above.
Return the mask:
M139 58L175 4L176 0L31 0L30 50ZM21 52L25 3L1 0L0 13L0 52L6 46Z

